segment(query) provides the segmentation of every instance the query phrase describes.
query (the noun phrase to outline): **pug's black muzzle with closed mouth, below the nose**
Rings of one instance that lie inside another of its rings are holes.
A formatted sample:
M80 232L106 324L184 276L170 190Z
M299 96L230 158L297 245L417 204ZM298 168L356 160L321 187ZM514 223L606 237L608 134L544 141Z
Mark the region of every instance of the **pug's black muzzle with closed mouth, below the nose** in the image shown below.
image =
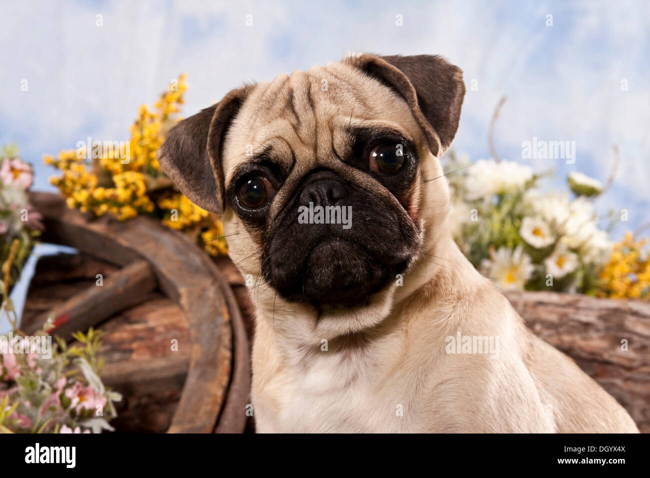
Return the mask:
M348 185L336 206L351 207L350 228L301 224L295 203L268 233L262 273L289 302L350 307L395 284L418 250L418 233L398 204Z

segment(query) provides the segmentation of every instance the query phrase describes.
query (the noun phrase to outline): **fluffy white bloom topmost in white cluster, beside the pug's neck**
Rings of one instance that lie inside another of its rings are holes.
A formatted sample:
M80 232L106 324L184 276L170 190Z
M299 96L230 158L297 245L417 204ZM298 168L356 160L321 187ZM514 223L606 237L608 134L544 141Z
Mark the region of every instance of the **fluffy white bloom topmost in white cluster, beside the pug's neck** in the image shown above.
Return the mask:
M515 194L533 177L530 166L522 166L513 161L479 159L469 168L465 189L467 199L487 198L493 194Z

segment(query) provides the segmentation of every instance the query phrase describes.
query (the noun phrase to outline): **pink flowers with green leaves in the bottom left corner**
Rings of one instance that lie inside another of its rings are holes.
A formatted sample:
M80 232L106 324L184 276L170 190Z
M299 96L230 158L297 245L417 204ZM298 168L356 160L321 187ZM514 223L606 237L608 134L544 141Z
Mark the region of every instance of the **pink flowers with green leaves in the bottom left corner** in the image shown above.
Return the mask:
M47 329L24 337L0 336L0 432L99 433L112 431L119 393L105 388L98 358L101 332L77 332L83 347L51 343ZM25 346L27 343L27 346Z

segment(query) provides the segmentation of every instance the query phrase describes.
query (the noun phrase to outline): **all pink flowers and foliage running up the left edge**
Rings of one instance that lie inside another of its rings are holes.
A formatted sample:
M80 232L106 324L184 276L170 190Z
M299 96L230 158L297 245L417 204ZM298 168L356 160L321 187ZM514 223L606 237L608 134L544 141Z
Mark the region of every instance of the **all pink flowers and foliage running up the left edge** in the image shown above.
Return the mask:
M99 379L97 357L101 333L75 334L85 347L52 345L47 321L44 330L25 337L9 294L43 229L42 216L28 202L32 166L18 157L15 146L0 154L0 237L2 274L0 314L12 331L0 336L0 432L99 432L110 430L120 395Z

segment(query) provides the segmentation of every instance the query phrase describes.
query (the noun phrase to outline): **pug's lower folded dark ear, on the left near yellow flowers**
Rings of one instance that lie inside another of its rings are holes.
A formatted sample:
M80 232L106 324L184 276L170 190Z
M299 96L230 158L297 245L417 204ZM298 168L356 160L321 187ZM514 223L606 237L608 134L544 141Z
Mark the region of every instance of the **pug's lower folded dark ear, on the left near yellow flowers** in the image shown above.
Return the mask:
M162 170L181 193L211 213L224 212L223 140L250 90L252 86L232 90L223 100L179 122L157 152Z

